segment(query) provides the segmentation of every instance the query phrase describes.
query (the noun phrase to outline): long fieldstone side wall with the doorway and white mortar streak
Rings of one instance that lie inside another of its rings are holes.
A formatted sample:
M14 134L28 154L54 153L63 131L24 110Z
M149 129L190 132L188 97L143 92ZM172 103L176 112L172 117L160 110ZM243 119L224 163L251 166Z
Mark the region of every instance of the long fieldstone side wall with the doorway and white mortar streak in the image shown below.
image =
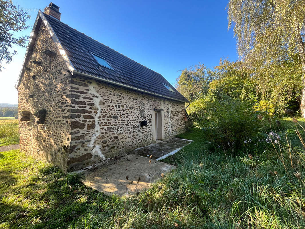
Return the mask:
M185 131L183 102L74 77L70 81L71 147L75 170L155 142L154 108L163 112L164 139ZM147 126L140 127L141 121Z

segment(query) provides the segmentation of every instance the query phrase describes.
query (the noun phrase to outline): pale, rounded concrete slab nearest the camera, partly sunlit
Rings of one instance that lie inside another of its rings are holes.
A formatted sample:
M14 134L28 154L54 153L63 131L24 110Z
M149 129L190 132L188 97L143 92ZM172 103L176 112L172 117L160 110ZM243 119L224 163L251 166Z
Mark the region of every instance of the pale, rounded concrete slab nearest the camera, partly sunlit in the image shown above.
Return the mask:
M174 165L140 155L124 154L88 171L83 170L82 182L106 195L128 196L137 191L145 191L151 183L161 178L161 173L166 174L174 168ZM127 175L128 181L126 181Z

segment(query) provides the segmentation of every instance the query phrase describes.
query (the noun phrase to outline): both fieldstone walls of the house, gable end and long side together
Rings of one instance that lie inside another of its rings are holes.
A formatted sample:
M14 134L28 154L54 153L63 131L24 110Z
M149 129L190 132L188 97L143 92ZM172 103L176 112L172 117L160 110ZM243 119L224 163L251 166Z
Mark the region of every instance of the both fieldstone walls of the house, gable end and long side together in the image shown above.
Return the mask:
M185 131L184 102L71 75L43 23L26 67L18 88L21 150L64 172L154 143L154 109L163 112L164 139ZM40 124L34 114L44 109Z

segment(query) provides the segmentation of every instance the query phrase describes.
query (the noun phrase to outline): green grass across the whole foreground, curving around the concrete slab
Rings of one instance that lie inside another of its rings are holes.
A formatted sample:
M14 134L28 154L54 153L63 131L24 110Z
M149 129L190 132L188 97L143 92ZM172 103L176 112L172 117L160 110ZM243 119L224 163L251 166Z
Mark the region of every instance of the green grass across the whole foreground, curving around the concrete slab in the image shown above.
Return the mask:
M293 128L285 122L285 128ZM233 152L211 149L199 129L179 137L194 142L164 160L177 169L127 199L107 197L79 183L75 174L65 175L18 150L1 152L0 228L305 227L300 144L292 147L292 166L282 151L285 169L265 143Z

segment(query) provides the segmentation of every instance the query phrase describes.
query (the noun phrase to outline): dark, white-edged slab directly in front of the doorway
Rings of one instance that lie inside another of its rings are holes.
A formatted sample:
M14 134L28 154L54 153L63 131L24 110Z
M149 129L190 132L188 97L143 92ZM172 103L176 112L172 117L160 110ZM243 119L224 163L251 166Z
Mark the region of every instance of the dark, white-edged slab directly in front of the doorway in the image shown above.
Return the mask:
M166 158L167 156L173 155L174 153L178 152L183 147L191 143L192 140L171 138L164 141L158 141L155 144L135 149L134 151L131 151L131 153L143 157L150 157L152 155L151 158L158 161L160 159Z

